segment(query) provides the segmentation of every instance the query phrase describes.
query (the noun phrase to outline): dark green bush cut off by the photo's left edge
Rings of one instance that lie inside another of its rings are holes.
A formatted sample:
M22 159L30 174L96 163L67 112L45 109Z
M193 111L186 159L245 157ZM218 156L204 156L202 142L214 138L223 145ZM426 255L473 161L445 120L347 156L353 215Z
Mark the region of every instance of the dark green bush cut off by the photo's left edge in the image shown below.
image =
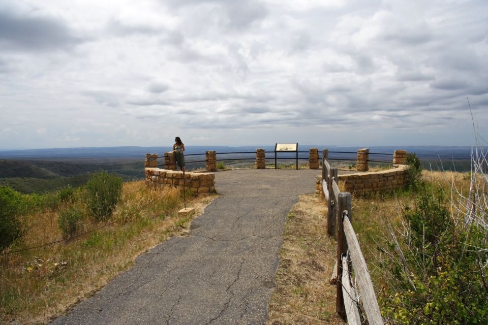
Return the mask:
M0 186L0 250L7 248L21 234L21 194L10 187Z

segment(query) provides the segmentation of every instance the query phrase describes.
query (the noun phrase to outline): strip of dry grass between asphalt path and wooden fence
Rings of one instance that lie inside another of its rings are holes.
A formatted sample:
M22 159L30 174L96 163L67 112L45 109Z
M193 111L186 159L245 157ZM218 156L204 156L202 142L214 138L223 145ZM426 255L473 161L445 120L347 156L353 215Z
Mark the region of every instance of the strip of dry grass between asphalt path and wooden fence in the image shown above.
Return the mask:
M316 196L300 196L287 216L277 287L266 324L343 324L335 313L335 240L326 235L326 206Z

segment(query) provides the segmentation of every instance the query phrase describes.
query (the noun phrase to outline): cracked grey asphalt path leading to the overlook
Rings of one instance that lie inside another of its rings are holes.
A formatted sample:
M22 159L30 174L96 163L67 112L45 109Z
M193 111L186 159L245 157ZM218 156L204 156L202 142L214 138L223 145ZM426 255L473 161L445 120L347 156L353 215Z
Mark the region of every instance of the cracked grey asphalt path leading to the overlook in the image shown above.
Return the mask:
M286 214L320 170L216 173L221 197L188 237L140 255L51 324L262 324L275 287Z

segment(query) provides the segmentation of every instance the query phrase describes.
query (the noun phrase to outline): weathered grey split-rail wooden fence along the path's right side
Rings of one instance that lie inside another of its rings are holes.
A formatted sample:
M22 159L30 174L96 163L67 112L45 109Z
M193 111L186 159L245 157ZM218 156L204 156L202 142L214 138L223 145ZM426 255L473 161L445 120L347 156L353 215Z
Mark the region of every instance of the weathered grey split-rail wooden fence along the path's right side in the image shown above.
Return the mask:
M356 277L362 300L362 308L370 325L384 324L371 282L368 266L364 261L359 242L352 228L352 196L339 189L338 170L328 162L328 149L323 150L322 187L327 200L327 234L337 232L337 261L331 280L337 283L335 310L347 319L349 324L361 324L359 315L359 296L356 293L351 275Z

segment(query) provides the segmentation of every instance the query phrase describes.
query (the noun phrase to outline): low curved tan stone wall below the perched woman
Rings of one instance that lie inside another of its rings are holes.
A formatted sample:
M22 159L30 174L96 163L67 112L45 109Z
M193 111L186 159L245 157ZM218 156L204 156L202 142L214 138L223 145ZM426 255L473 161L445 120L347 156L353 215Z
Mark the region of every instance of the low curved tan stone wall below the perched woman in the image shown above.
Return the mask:
M215 173L186 172L183 178L183 172L167 169L146 167L144 172L149 188L175 187L182 190L185 182L185 187L200 197L215 192Z

